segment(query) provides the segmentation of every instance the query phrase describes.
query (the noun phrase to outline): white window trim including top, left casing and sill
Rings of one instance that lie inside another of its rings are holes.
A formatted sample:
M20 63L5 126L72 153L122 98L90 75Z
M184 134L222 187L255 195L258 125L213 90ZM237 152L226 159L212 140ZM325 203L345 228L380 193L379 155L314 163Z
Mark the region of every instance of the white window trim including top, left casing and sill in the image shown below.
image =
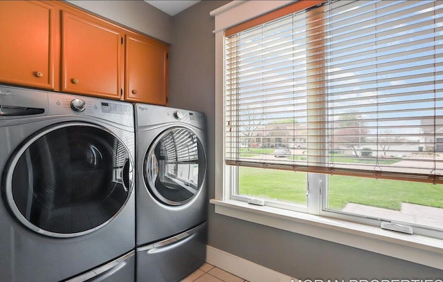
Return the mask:
M230 199L230 179L224 164L224 30L292 2L234 0L210 12L215 17L215 198L210 200L215 213L443 270L438 264L443 240L327 218L320 215L318 203L308 203L309 214L305 214ZM309 193L320 196L320 191Z

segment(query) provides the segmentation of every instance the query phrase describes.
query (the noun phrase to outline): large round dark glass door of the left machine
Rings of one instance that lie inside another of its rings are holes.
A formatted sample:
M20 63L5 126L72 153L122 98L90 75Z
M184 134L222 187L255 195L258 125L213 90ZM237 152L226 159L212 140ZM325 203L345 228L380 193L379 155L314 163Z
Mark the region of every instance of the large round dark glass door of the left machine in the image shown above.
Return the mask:
M69 122L31 136L5 170L8 205L26 227L73 237L105 226L132 189L132 160L125 145L94 124Z

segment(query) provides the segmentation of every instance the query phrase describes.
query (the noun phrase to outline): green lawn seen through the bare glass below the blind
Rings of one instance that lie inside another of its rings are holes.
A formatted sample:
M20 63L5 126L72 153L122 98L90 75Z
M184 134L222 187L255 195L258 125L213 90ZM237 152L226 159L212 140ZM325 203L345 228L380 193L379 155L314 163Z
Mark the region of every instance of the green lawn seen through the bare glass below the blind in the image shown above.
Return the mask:
M306 173L239 167L239 194L305 204ZM347 203L399 210L401 203L443 208L443 185L329 176L329 208Z

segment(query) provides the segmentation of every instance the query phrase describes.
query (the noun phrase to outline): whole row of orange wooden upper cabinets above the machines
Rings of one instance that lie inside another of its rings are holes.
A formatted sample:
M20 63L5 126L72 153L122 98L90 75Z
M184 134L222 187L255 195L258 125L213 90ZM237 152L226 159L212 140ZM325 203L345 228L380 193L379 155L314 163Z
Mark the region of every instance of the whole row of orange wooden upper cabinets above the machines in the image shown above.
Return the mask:
M0 84L168 105L168 44L65 1L0 0L0 19Z

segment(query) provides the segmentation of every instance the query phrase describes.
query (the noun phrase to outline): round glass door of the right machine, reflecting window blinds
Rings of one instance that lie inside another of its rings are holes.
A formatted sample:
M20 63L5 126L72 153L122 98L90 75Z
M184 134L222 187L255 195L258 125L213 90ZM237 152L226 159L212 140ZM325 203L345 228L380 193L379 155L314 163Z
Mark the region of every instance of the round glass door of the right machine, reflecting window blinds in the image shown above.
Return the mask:
M167 205L183 205L201 189L206 156L197 135L181 126L163 131L145 156L146 186Z

